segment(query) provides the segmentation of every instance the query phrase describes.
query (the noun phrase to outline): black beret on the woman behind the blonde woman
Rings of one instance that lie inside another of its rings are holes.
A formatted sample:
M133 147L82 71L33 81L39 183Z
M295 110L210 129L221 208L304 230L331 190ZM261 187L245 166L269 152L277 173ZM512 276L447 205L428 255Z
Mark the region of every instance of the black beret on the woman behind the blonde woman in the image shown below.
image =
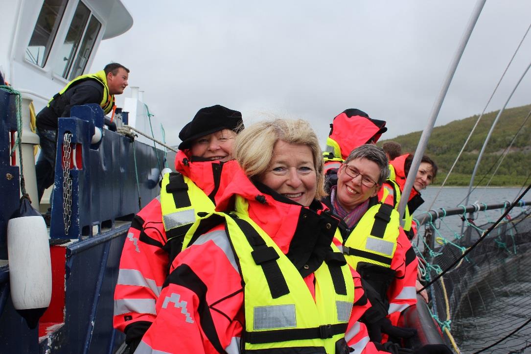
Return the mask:
M238 111L233 111L221 105L201 108L195 114L194 119L179 132L179 139L183 141L179 144L179 149L189 149L195 139L205 135L223 129L238 132L238 129L242 128L242 113Z

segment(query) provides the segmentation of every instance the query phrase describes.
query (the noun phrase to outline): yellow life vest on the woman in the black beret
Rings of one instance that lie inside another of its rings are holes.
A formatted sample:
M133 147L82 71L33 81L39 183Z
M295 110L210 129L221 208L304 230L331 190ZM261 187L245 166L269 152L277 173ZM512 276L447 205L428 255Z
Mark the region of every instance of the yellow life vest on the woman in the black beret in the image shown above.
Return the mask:
M199 218L198 212L211 213L216 208L203 190L181 173L166 173L162 178L160 207L167 241L184 236Z

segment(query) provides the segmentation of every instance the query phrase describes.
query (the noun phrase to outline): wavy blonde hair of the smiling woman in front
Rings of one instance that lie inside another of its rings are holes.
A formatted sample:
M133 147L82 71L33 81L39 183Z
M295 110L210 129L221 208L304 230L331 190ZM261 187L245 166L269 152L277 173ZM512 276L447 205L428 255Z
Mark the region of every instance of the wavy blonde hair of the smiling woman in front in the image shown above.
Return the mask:
M256 176L267 171L273 157L273 147L279 140L288 144L306 145L312 150L317 180L315 199L326 196L321 147L317 135L306 121L275 119L261 121L245 128L236 137L234 158L245 174L255 180Z

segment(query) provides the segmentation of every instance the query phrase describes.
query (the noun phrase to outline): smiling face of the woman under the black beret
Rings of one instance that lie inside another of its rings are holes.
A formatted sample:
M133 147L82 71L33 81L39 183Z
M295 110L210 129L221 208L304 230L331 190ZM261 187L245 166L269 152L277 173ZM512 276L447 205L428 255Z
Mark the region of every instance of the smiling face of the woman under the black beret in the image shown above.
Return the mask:
M233 158L234 138L236 133L230 129L205 135L192 143L192 156L227 162Z

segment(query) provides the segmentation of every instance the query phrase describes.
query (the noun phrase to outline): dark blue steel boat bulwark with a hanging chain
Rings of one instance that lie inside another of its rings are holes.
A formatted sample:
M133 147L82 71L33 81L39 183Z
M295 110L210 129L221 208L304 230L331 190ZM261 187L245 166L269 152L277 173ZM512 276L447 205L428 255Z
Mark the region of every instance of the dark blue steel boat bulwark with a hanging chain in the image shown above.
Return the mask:
M131 221L158 195L164 167L164 151L103 129L99 105L71 114L58 123L50 238L84 239Z

